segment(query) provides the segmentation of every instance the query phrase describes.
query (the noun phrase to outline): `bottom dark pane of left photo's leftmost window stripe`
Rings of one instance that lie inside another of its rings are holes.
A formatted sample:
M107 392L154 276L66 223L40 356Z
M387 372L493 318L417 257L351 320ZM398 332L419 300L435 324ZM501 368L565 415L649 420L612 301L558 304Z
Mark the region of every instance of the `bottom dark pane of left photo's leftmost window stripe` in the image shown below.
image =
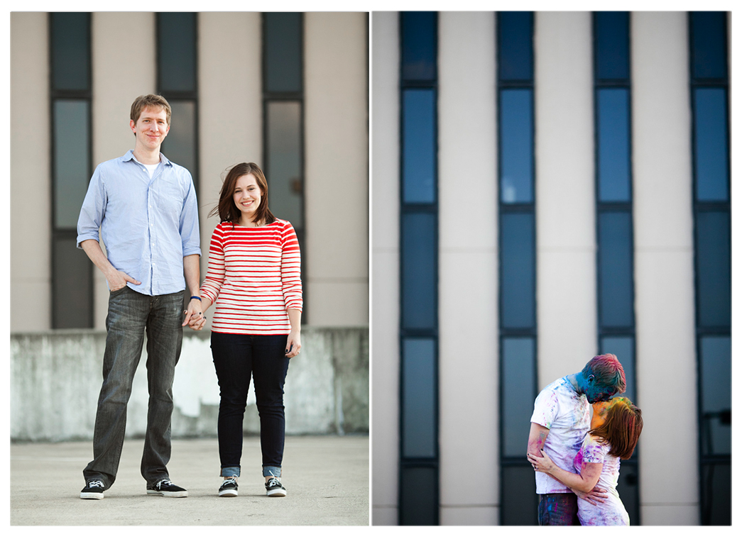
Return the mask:
M52 245L53 316L55 329L90 328L93 264L76 247L75 234L55 237Z

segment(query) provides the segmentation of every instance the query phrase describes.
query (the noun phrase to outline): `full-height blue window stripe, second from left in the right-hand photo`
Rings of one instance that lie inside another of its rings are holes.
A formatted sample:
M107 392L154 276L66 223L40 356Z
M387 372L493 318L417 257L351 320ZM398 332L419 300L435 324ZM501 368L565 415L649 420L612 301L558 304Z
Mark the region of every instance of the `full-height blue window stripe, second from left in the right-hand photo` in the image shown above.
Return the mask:
M535 525L538 498L523 454L537 380L533 13L496 18L500 523Z

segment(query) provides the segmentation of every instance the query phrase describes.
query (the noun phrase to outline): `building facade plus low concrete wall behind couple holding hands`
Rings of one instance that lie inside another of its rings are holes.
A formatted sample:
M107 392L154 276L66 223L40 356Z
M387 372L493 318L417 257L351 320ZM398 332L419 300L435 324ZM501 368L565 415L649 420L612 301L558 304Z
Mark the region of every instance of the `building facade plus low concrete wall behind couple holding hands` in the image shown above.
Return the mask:
M108 287L76 222L95 166L134 147L145 93L173 109L162 153L194 178L202 279L207 215L238 162L263 168L272 211L298 232L306 342L287 430L367 432L367 14L14 12L10 53L11 437L92 435ZM186 328L175 435L216 432L208 336ZM130 410L146 408L139 378ZM128 434L144 430L137 415Z

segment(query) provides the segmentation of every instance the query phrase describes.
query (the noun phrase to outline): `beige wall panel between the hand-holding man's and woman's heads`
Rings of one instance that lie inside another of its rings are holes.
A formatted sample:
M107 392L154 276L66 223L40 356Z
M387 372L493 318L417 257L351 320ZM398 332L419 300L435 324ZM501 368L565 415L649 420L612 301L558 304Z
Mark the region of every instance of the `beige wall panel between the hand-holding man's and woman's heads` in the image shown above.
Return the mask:
M218 216L207 215L219 202L226 168L239 162L255 162L263 168L260 13L199 13L198 33L203 281L211 233L219 224Z

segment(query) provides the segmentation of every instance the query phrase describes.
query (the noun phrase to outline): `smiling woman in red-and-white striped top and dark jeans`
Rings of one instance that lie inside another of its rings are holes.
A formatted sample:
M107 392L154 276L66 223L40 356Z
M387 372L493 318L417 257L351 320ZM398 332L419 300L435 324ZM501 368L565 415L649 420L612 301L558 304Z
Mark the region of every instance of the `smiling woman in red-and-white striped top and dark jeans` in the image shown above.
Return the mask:
M209 271L200 289L201 314L216 305L211 354L220 388L218 437L220 496L237 496L243 416L252 376L260 414L260 449L266 494L285 496L280 483L286 420L283 383L289 358L301 350L301 256L292 225L268 208L268 184L255 163L227 173L209 248Z

